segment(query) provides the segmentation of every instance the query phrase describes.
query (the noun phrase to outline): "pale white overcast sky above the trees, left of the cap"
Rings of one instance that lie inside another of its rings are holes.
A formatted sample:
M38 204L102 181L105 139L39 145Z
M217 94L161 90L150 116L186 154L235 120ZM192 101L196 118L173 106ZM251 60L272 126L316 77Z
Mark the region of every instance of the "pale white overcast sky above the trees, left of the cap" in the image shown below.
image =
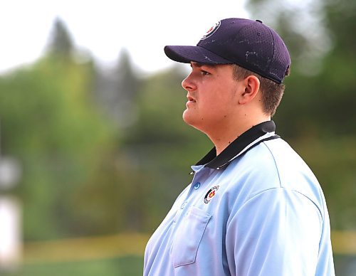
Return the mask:
M247 17L245 0L4 0L0 5L0 73L41 54L56 17L75 45L101 63L126 48L140 70L172 65L165 45L195 45L222 18Z

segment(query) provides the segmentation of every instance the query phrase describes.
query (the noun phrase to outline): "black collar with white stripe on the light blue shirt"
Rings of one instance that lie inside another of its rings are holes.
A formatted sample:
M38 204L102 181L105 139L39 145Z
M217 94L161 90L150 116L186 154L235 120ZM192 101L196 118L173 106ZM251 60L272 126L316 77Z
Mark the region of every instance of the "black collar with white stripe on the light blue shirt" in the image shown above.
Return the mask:
M273 121L257 124L256 126L251 127L251 129L248 129L246 132L237 137L234 142L229 144L229 146L226 147L226 149L224 149L224 151L221 152L221 154L218 156L216 156L215 147L211 149L211 151L208 152L208 154L206 154L206 156L204 156L200 161L198 161L196 165L205 165L211 169L221 169L224 166L229 165L230 162L235 159L235 157L242 151L246 152L248 149L251 149L263 141L280 138L278 135L273 135L253 143L268 132L274 132L275 130L276 124ZM250 147L248 147L248 145ZM246 149L246 147L248 148Z

